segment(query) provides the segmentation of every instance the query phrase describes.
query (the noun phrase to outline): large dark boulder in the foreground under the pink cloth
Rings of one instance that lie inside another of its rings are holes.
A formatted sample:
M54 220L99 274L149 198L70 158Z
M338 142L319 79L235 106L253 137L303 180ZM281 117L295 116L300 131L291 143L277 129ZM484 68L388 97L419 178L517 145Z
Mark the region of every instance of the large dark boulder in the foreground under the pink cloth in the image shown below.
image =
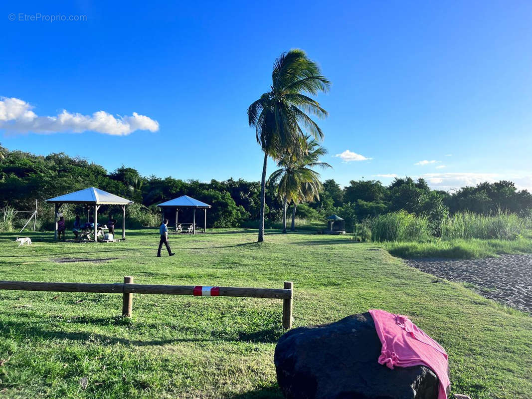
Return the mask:
M277 381L287 399L437 399L432 370L390 370L377 363L380 351L369 313L295 328L275 348Z

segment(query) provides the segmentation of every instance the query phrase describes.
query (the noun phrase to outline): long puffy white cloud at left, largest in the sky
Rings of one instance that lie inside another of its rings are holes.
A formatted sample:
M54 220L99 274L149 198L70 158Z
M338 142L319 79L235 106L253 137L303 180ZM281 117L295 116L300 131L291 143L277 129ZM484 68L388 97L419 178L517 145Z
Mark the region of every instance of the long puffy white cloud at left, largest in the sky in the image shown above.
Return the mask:
M113 136L126 136L135 130L159 130L159 122L136 112L130 116L114 117L105 111L82 115L63 110L52 117L39 117L32 111L33 108L19 98L0 97L0 129L15 133L96 131Z

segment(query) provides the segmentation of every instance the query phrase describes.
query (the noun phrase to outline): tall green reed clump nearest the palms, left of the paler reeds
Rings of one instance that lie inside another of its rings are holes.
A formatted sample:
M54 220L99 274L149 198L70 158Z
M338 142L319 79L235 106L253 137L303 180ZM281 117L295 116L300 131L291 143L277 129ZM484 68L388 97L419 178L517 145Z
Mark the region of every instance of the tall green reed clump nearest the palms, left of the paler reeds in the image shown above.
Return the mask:
M430 236L429 220L404 210L368 219L372 241L425 240Z

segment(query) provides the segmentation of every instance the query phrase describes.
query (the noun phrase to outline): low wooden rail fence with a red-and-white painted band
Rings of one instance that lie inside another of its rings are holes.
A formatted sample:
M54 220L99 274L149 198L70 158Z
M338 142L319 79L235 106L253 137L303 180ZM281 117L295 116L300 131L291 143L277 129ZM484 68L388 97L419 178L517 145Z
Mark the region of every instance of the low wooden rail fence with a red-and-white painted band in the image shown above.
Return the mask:
M245 298L273 298L282 300L282 327L292 328L294 285L285 281L284 288L205 287L183 285L133 284L133 277L123 283L86 284L81 282L0 281L0 289L48 292L83 292L122 294L122 315L131 317L133 294L232 296Z

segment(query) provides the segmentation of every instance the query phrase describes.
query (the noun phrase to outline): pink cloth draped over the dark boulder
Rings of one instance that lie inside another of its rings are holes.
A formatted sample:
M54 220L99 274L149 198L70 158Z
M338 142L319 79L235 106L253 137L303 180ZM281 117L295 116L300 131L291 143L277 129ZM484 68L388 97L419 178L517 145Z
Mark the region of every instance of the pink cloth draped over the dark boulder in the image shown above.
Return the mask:
M394 366L427 366L439 379L438 399L446 399L450 381L444 348L406 316L379 309L372 309L369 313L383 344L378 362L392 370Z

